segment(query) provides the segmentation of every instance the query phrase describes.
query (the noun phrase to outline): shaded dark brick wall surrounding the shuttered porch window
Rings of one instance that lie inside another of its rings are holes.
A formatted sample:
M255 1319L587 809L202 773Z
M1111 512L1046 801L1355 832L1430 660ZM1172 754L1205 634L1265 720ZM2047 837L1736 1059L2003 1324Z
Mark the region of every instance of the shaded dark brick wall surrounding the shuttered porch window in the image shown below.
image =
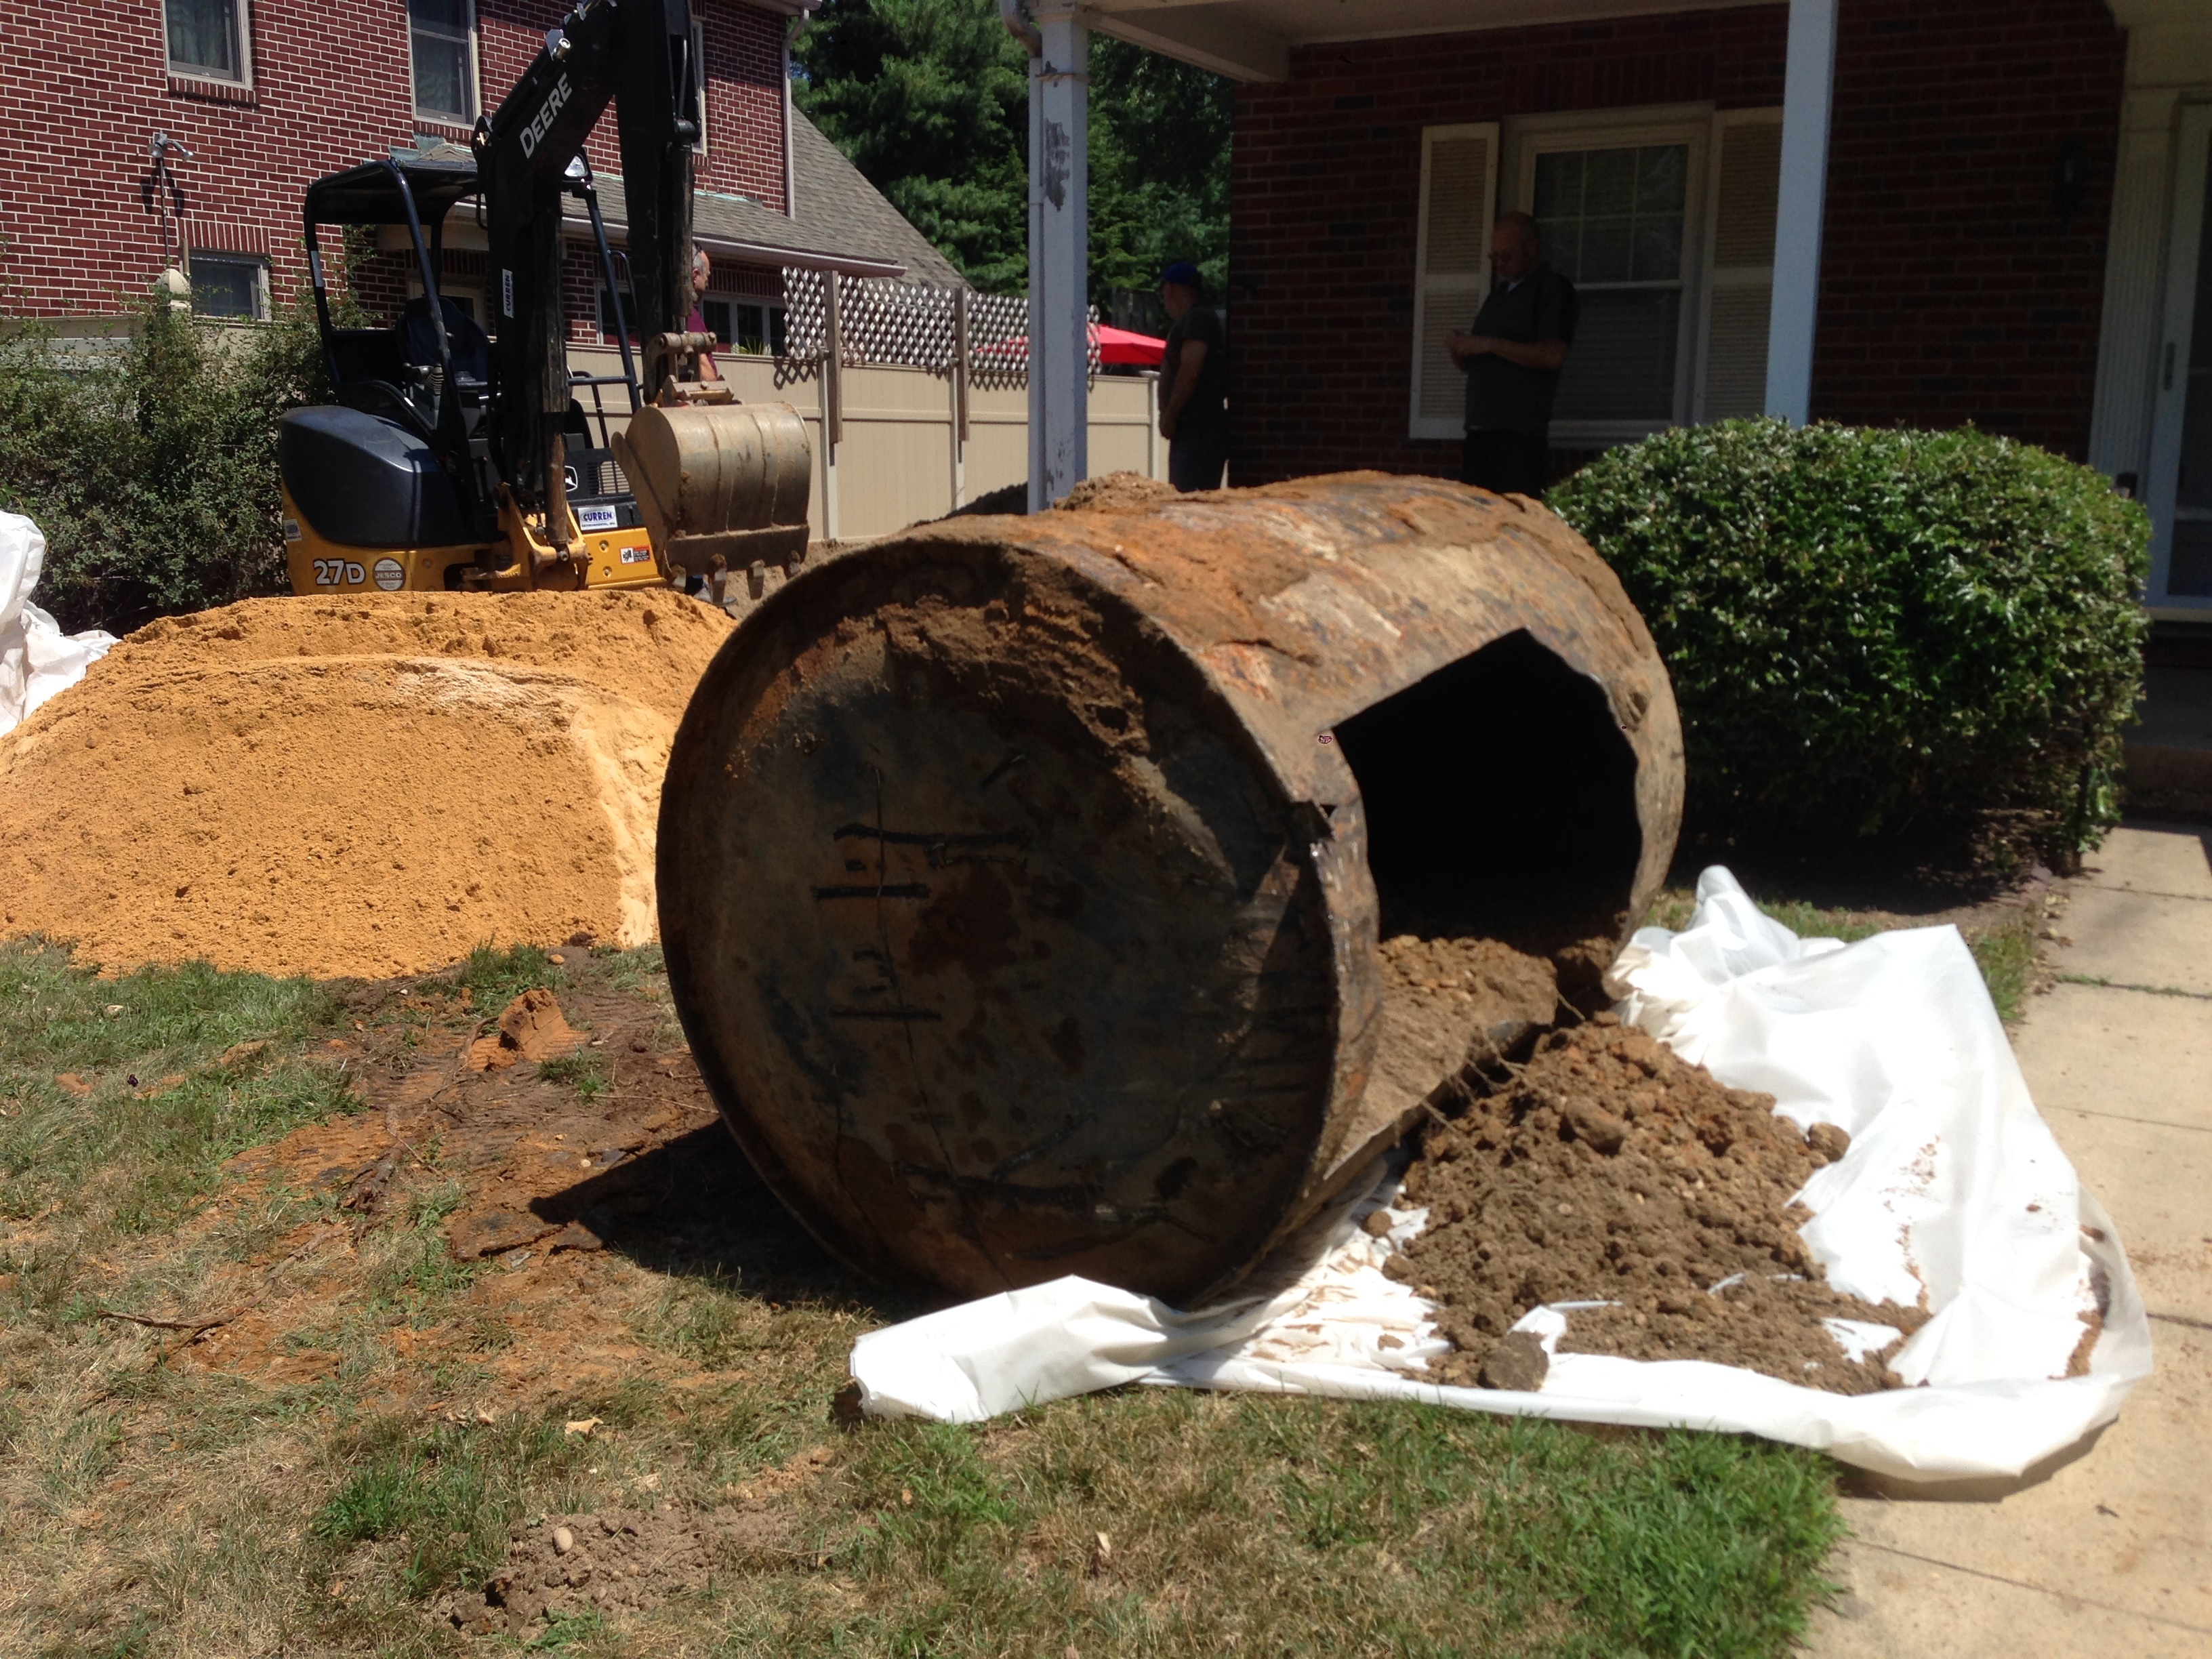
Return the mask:
M1843 0L1814 411L1975 418L2079 453L2124 35L2104 0ZM1407 438L1420 131L1776 106L1785 7L1301 49L1237 91L1232 469L1453 473ZM2088 146L2070 228L2062 135ZM1902 349L1900 349L1902 347Z

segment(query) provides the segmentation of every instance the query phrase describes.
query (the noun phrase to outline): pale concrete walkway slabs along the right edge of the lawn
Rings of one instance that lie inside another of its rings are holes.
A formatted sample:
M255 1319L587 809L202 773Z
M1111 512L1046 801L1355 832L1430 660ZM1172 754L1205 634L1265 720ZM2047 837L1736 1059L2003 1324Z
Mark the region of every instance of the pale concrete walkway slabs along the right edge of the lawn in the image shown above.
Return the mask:
M2053 929L2062 982L2013 1044L2119 1225L2157 1369L2008 1491L1860 1484L1820 1659L2212 1657L2212 830L2115 832Z

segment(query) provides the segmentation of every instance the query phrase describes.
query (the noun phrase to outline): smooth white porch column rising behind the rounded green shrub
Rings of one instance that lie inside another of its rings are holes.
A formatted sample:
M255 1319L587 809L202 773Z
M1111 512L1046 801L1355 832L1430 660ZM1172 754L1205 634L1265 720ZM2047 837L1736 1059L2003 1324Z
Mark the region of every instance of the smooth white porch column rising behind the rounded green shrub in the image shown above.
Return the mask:
M1767 312L1767 414L1792 427L1812 418L1812 341L1820 312L1820 215L1827 208L1827 117L1834 88L1836 0L1790 0L1774 303Z

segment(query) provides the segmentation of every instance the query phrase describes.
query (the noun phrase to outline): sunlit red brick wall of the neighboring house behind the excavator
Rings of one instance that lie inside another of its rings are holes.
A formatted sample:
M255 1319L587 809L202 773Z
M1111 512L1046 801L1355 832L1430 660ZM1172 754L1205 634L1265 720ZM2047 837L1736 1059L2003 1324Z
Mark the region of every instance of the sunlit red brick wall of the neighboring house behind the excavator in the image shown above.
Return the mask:
M695 0L708 33L708 159L699 186L783 206L783 20ZM564 0L480 0L480 82L495 106L566 13ZM175 173L190 243L268 254L283 303L305 279L299 208L310 181L409 144L418 122L405 0L254 0L252 88L166 71L161 0L9 7L0 53L0 307L35 316L131 310L161 268L144 206L146 139L192 150ZM613 122L593 166L619 170Z

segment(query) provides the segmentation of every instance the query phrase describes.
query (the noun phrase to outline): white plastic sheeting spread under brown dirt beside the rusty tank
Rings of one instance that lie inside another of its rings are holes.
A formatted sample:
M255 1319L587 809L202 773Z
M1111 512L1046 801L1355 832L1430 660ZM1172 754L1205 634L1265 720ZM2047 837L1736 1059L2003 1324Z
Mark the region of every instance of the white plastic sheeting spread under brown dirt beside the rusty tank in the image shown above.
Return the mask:
M1843 1290L1905 1303L1927 1290L1936 1316L1891 1358L1918 1387L1843 1396L1701 1360L1557 1352L1533 1394L1425 1383L1444 1343L1429 1305L1380 1270L1425 1214L1389 1210L1380 1239L1358 1225L1387 1203L1385 1181L1223 1307L1179 1314L1060 1279L872 1332L852 1354L863 1409L978 1422L1119 1383L1274 1389L1759 1433L1907 1480L2017 1475L2110 1422L2150 1374L2150 1325L1958 929L1801 940L1725 869L1697 894L1686 931L1644 929L1621 953L1619 1011L1721 1082L1776 1095L1794 1121L1851 1135L1805 1186L1805 1239ZM1573 1307L1520 1327L1551 1349ZM2088 1374L2064 1376L2081 1316L2099 1312Z

